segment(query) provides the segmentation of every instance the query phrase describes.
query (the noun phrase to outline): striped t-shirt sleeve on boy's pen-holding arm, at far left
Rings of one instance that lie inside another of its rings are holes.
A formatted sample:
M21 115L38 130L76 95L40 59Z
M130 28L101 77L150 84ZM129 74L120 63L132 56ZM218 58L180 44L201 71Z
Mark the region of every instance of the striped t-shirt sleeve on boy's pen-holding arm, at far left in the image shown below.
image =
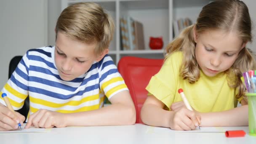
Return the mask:
M21 109L24 105L24 100L28 96L29 60L27 54L28 52L22 57L10 79L0 92L0 95L2 95L2 93L7 94L14 110ZM0 97L0 103L5 105L2 96Z

